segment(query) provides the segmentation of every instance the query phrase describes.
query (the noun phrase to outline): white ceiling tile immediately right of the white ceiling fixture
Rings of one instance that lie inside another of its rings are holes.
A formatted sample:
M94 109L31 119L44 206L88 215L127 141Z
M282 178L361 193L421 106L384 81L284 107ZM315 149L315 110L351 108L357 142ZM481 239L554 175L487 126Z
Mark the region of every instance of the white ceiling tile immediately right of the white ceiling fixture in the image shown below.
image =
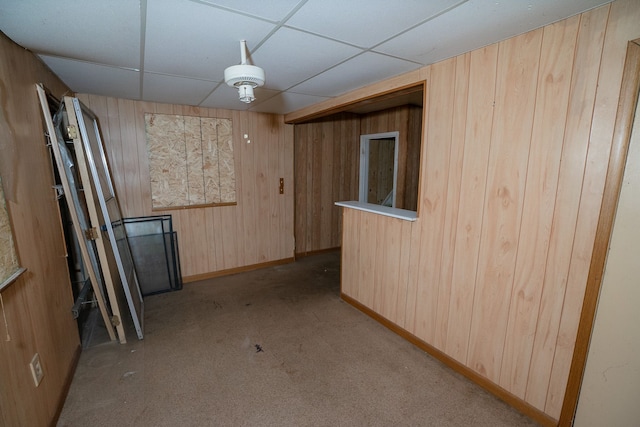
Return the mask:
M265 70L267 88L285 90L360 52L353 46L280 28L252 58Z

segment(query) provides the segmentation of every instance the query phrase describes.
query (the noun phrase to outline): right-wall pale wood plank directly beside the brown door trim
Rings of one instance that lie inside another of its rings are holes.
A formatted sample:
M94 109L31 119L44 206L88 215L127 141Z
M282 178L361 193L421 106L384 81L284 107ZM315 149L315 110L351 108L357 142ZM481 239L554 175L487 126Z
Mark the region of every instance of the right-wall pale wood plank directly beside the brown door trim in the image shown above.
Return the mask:
M627 43L640 36L640 5L637 1L615 2L608 18L567 292L545 406L552 414L560 414L562 409L566 381L558 378L566 378L571 365L620 98L623 58Z

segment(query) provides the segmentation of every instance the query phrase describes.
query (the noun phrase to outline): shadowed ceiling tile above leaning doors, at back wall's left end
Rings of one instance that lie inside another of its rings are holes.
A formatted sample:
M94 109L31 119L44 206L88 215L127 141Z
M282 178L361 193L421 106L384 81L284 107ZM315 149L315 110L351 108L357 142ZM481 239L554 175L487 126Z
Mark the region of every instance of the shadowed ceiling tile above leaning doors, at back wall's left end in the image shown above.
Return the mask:
M140 73L116 67L39 55L77 93L140 99Z

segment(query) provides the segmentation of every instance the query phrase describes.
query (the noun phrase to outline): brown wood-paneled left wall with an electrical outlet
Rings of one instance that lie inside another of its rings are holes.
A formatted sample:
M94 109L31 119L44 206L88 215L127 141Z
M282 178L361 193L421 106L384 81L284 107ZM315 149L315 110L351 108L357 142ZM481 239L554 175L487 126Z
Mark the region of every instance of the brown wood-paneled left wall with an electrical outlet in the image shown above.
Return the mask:
M0 176L27 271L2 291L0 424L47 426L55 420L80 351L71 314L66 248L36 93L43 83L60 97L68 88L31 53L0 34ZM6 323L4 317L6 316ZM44 377L33 383L39 353Z

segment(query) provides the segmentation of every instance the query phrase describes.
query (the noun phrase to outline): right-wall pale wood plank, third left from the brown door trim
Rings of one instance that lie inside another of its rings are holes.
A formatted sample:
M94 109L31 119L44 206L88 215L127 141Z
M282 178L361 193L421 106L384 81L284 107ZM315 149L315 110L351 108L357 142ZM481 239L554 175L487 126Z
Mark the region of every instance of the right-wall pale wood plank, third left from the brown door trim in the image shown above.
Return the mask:
M524 398L549 249L579 17L544 29L500 385Z

